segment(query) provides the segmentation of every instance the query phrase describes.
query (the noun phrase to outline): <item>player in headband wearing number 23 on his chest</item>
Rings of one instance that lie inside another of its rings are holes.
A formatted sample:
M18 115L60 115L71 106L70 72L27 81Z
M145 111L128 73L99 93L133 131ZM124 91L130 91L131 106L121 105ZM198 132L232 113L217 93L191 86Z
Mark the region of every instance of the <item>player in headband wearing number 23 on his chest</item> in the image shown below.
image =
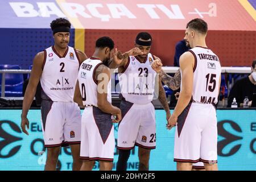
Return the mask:
M139 170L148 170L150 151L156 147L155 108L151 101L156 92L166 110L166 118L171 113L162 82L151 68L155 56L150 53L152 38L147 32L140 32L135 40L135 48L123 54L119 64L115 61L110 68L118 68L121 86L122 121L118 126L119 156L117 171L125 171L130 150L138 146ZM155 86L155 79L156 85ZM155 90L157 89L157 90Z

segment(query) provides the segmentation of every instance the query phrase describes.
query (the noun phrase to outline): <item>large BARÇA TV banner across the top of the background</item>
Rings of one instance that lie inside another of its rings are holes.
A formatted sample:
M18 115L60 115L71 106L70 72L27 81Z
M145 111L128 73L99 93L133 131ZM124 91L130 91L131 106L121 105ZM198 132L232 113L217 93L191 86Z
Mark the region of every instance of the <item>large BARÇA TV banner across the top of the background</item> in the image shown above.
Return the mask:
M48 28L64 17L80 29L183 30L188 20L203 18L209 30L252 31L255 9L254 0L5 0L0 27Z

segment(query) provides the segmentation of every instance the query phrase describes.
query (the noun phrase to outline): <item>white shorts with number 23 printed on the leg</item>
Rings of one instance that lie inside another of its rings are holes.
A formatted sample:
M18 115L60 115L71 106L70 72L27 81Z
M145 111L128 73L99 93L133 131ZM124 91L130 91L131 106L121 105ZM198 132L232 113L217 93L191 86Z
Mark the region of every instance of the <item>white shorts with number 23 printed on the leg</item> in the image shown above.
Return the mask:
M130 150L134 146L154 149L156 146L155 108L121 101L122 121L118 126L117 148Z

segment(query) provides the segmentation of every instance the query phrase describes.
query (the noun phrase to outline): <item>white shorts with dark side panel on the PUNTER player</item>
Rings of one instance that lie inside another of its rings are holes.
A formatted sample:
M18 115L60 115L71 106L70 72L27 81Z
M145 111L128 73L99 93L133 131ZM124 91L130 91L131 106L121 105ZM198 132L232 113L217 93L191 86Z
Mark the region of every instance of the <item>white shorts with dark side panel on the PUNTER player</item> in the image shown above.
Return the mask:
M111 114L98 107L85 107L82 113L80 159L114 160L114 126Z

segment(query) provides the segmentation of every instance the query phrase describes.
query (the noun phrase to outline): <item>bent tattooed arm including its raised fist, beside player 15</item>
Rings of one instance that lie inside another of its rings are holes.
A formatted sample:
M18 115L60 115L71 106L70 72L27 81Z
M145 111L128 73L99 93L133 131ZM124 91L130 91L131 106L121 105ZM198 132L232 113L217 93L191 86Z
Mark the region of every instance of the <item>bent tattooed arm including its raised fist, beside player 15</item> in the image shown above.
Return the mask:
M159 73L159 76L161 80L166 84L169 88L172 90L177 90L180 88L180 68L178 71L175 73L174 77L167 75L166 72L163 71L162 69L162 61L159 59L159 57L155 57L154 62L152 63L151 67L154 69L155 72Z

